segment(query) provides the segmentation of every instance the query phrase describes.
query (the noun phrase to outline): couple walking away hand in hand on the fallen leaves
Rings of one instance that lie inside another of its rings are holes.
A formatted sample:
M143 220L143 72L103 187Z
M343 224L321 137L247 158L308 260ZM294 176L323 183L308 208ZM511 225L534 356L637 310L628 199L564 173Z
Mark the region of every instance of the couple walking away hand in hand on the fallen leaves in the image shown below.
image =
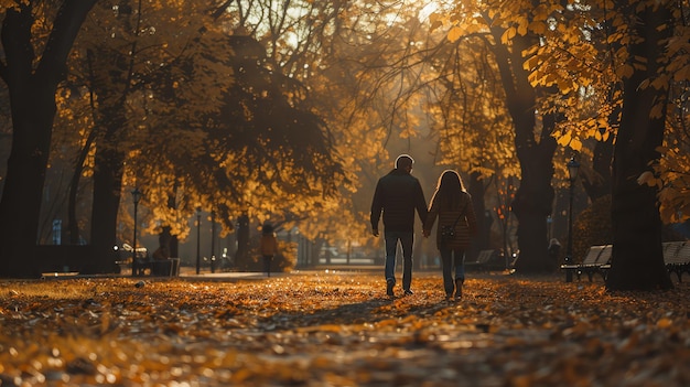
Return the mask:
M439 218L436 247L441 255L443 289L446 300L462 298L465 280L465 249L471 237L476 234L476 216L472 197L466 192L456 171L441 173L436 189L427 207L427 201L419 180L411 175L414 160L408 154L396 159L396 168L378 180L371 201L371 234L379 235L379 218L384 217L386 244L386 293L393 297L396 286L396 251L398 243L402 248L402 290L412 294L412 247L414 244L414 212L423 224L423 236L429 237Z

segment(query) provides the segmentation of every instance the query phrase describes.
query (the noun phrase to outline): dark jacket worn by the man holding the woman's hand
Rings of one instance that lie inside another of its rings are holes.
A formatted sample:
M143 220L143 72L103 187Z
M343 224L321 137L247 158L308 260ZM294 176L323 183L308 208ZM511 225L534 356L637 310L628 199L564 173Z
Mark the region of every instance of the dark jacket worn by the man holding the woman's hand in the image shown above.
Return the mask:
M384 213L386 232L414 232L414 209L423 223L427 201L419 180L407 171L395 169L378 180L371 202L371 229L378 229Z

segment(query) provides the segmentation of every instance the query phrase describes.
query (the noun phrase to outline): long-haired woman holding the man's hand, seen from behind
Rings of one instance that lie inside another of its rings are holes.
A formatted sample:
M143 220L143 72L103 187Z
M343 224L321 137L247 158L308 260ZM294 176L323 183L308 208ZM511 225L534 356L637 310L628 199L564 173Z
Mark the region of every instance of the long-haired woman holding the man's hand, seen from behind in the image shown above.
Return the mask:
M429 203L429 215L423 227L424 236L431 234L436 217L439 217L436 247L441 254L445 299L451 300L455 290L455 300L459 300L465 281L465 249L470 246L471 236L476 234L477 221L472 206L472 196L465 191L462 179L455 171L443 171L439 178L436 191Z

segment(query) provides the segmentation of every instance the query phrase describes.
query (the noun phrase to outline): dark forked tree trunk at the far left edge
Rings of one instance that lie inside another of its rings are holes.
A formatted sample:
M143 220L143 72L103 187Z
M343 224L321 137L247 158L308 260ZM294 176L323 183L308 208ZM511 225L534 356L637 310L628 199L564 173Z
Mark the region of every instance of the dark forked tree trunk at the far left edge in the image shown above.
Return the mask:
M45 44L35 60L31 29L32 2L7 9L2 22L6 65L0 76L10 90L12 149L0 201L0 277L34 277L31 261L55 117L55 92L79 28L95 0L62 3Z

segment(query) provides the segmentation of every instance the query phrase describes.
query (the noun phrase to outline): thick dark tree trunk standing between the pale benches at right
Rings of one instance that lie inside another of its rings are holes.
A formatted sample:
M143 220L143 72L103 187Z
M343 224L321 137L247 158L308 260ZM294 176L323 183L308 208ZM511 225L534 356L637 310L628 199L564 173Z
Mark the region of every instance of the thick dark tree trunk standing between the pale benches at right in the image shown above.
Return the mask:
M671 32L665 7L645 8L638 14L636 32L643 41L630 46L630 57L646 58L624 82L623 115L613 160L612 226L613 255L606 278L610 290L670 289L672 283L664 265L661 219L656 186L638 184L658 160L656 148L664 140L664 117L651 117L655 104L666 104L667 90L640 87L659 71L661 44ZM665 28L664 28L665 26ZM642 68L640 68L642 67ZM666 112L666 107L661 110Z

